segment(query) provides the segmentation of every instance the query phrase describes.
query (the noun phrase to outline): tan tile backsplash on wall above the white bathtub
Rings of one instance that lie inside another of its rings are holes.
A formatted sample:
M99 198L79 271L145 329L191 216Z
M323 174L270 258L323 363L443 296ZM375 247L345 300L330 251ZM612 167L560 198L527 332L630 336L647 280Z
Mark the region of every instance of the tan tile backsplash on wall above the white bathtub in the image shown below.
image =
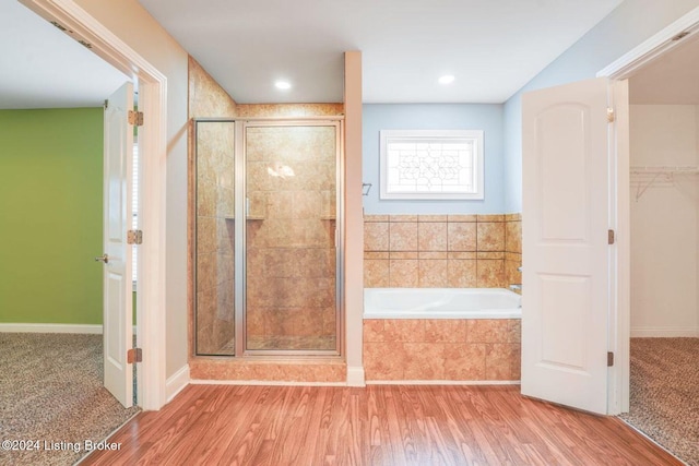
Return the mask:
M520 214L366 215L367 288L507 288L521 283Z

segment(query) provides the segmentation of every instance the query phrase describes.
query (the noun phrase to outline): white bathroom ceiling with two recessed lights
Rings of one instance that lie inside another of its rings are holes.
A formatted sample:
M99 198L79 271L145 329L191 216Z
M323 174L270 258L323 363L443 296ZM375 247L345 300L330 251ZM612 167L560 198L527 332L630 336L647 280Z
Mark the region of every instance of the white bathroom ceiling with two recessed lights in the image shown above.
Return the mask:
M140 2L239 103L342 101L345 50L364 101L502 103L621 0Z

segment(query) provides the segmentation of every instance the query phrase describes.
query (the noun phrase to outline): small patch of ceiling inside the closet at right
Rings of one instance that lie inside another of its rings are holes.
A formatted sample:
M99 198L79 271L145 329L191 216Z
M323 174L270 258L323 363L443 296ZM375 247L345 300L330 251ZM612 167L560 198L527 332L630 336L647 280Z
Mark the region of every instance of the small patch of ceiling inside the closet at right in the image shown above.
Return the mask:
M631 76L631 104L699 105L699 38L684 40Z

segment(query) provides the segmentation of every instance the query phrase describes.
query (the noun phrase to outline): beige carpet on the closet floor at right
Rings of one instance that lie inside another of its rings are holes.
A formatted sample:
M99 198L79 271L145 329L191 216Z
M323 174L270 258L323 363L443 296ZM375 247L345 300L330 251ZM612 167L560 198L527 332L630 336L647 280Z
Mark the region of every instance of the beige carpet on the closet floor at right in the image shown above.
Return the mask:
M631 338L630 395L621 419L699 466L699 338Z

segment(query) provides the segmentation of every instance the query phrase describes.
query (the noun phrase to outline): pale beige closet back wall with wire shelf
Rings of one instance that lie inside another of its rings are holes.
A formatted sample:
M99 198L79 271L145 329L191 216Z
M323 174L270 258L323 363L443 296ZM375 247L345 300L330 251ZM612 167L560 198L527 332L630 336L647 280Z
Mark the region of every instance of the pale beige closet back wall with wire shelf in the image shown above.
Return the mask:
M699 106L631 105L631 336L699 336ZM639 172L641 171L641 172Z

